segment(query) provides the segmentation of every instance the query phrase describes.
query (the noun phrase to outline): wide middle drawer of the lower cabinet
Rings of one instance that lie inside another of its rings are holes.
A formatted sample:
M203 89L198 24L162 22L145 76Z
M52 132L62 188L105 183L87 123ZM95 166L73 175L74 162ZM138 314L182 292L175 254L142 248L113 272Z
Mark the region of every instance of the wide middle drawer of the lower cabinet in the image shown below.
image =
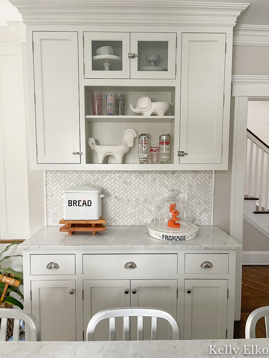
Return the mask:
M128 262L135 263L136 267L125 268ZM83 255L84 275L160 275L176 274L177 271L178 255L176 253Z

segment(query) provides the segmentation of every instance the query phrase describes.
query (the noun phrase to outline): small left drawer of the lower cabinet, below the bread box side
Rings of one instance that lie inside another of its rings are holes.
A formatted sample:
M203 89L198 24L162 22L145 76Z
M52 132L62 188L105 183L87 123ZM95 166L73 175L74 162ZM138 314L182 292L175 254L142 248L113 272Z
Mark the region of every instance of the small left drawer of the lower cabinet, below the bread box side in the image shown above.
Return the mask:
M30 272L31 275L75 275L75 255L30 255Z

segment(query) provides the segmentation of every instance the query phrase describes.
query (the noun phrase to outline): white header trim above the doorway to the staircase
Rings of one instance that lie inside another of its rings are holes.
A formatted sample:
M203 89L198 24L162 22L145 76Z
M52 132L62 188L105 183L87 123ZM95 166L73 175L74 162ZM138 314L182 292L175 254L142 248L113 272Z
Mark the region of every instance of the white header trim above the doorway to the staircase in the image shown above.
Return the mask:
M232 76L232 96L269 97L269 76Z

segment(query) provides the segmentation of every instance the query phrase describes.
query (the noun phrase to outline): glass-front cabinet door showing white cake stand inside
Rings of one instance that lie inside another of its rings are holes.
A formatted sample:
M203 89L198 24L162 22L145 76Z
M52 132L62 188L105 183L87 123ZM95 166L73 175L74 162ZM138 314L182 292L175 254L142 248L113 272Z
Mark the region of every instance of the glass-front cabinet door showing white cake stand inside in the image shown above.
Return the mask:
M84 32L84 78L130 78L129 32Z

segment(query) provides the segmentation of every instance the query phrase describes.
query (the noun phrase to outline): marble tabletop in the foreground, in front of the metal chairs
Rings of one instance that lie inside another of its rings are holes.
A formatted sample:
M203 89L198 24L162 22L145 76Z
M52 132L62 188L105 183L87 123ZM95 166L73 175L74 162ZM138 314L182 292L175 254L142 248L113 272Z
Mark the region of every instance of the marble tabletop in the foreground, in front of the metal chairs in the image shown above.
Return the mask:
M269 348L269 339L218 339L218 340L159 340L159 341L116 341L116 342L0 342L1 358L210 358L223 354L225 358L243 358L244 354ZM211 347L210 347L211 345ZM231 353L230 353L231 345ZM244 345L250 347L244 347ZM226 353L227 347L227 353ZM210 348L214 349L214 351ZM222 348L223 350L219 349ZM236 352L236 353L235 353ZM266 352L266 350L265 350ZM259 354L259 353L258 353ZM255 355L256 356L256 355ZM249 354L248 357L253 357Z

